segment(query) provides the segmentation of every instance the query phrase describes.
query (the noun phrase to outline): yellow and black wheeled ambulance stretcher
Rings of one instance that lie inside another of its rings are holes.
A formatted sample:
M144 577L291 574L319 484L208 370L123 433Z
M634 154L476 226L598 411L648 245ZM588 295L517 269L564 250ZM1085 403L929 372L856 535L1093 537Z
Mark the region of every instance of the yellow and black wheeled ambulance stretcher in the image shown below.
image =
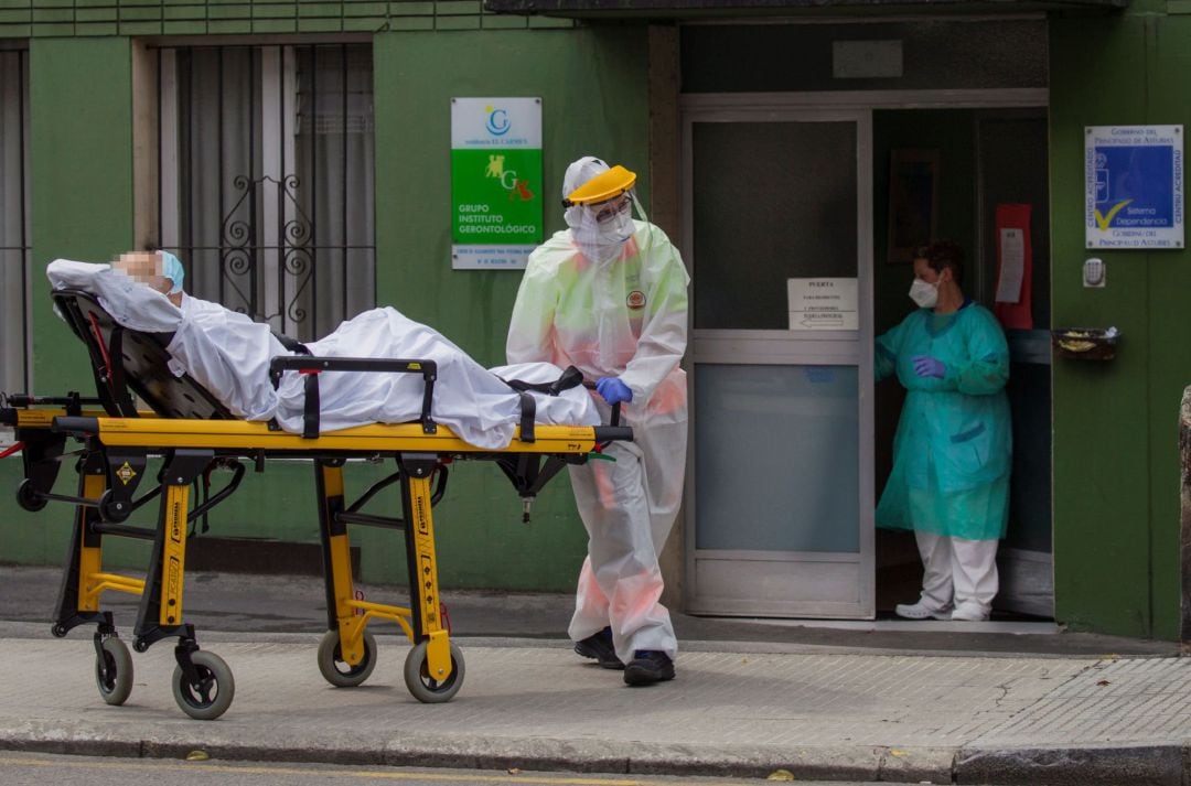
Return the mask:
M512 443L503 450L476 448L432 418L436 368L424 361L279 357L273 374L307 374L306 433L294 435L267 423L233 418L188 376L167 367L168 336L142 333L116 324L98 301L82 292L54 293L58 311L87 344L96 398L71 393L61 398L10 395L0 424L15 429L24 480L17 498L26 510L50 501L75 506L69 557L60 592L54 635L95 624L95 681L108 704L123 704L132 690L132 657L119 638L112 612L100 610L104 592L139 595L132 648L145 651L163 638L177 638L173 692L192 718L213 719L232 703L235 680L218 655L200 650L194 626L182 613L187 530L191 523L230 497L244 475L244 462L263 470L269 458L310 458L314 466L318 522L326 590L328 632L318 648L318 667L332 685L361 685L376 665L376 642L367 631L373 619L397 623L413 643L405 660L405 684L418 700L448 701L463 682L463 655L450 641L442 615L431 509L442 498L448 464L456 460L494 461L528 501L567 463L582 463L612 439L631 439L624 426L535 425L523 417ZM113 362L113 358L116 362ZM319 370L389 370L417 373L426 386L422 419L397 425L367 425L318 433ZM136 393L150 411L137 411ZM89 408L88 408L89 407ZM308 435L308 436L307 436ZM77 451L77 493L54 493L68 438ZM150 457L162 468L149 491L137 494ZM397 470L358 499L348 503L343 472L348 458L393 458ZM192 500L192 485L214 470L231 470L216 494ZM399 484L401 517L364 512L381 488ZM124 524L132 512L160 497L156 528ZM405 531L410 606L357 600L351 575L348 525ZM105 536L152 541L144 580L108 573L102 567Z

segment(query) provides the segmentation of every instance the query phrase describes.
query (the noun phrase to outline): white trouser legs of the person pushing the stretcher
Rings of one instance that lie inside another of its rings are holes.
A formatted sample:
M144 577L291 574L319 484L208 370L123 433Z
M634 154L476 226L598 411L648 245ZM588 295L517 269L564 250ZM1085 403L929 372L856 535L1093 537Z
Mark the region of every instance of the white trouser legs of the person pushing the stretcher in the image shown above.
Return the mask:
M659 444L666 449L653 449ZM660 603L657 555L682 495L686 422L634 425L634 442L612 442L604 453L616 461L569 467L588 541L567 632L578 642L611 626L616 655L625 663L643 649L673 659L678 640Z

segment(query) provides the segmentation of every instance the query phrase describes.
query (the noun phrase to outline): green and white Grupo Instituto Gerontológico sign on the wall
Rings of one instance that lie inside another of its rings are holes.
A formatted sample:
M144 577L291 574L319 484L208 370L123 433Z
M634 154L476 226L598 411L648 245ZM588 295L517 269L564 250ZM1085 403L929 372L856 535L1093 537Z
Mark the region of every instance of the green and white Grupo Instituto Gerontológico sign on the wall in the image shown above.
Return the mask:
M542 99L455 98L451 268L525 268L542 242Z

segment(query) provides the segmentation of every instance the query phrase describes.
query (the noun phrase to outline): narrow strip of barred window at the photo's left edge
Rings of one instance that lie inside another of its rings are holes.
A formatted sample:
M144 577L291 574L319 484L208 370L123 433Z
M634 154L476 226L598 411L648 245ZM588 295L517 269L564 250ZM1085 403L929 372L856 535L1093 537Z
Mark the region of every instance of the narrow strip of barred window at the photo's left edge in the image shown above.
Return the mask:
M29 51L0 42L0 391L30 389ZM0 435L0 439L5 437Z

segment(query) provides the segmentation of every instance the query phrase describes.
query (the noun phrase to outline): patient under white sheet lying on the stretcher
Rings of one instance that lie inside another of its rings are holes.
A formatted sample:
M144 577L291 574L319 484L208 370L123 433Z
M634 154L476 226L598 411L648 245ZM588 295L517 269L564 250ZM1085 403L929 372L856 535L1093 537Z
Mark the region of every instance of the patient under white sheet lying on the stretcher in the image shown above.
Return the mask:
M125 328L173 333L167 347L172 370L189 374L237 417L275 419L286 431L301 433L301 376L286 372L278 389L273 389L268 374L274 356L295 353L287 350L267 324L182 292L181 264L173 272L175 277L168 277L166 268L173 263L167 266L163 254L126 254L112 264L55 260L46 275L56 289L82 289L96 295ZM366 311L306 347L314 356L437 362L432 417L461 439L488 449L507 447L520 422L520 398L504 380L553 382L562 373L550 363L485 369L437 331L391 307ZM322 431L407 423L417 420L422 412L423 381L417 374L324 372L319 387ZM581 387L556 397L532 395L537 423L600 423L590 394Z

